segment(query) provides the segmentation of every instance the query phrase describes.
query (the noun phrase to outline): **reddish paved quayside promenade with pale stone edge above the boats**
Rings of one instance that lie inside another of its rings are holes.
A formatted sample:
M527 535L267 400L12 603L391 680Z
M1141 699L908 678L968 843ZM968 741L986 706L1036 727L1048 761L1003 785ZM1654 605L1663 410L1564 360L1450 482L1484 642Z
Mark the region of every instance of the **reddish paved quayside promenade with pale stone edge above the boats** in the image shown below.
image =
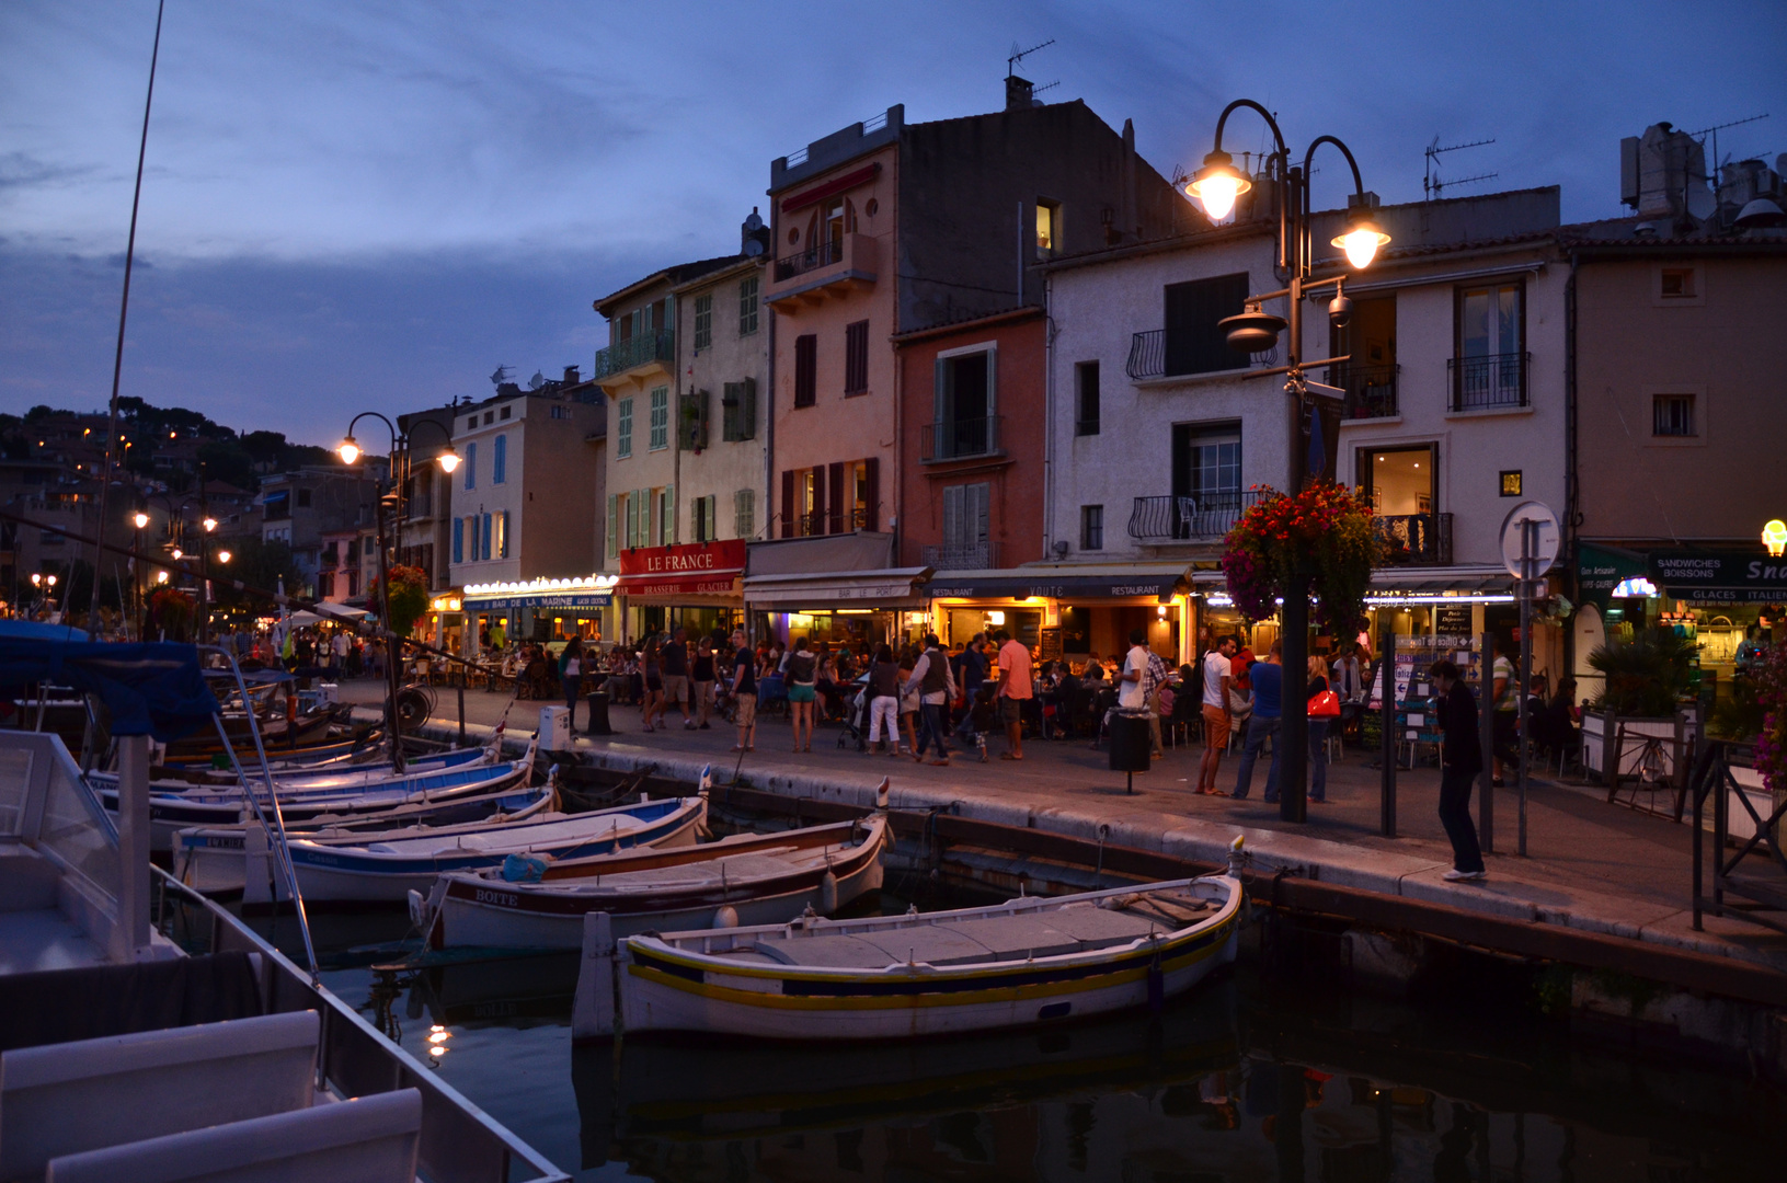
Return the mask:
M341 697L377 704L381 684L341 684ZM457 695L438 690L438 726L452 727ZM508 693L465 692L468 736L488 736L508 713L509 734L540 726L549 702L513 701ZM583 709L577 722L583 724ZM1489 879L1446 883L1451 845L1439 824L1439 772L1397 770L1397 835L1378 833L1381 779L1367 767L1374 752L1347 749L1328 768L1330 804L1310 804L1308 822L1278 817L1262 801L1267 761L1254 768L1244 801L1196 792L1203 749L1169 747L1145 774L1112 772L1108 752L1085 740L1026 742L1022 761L999 758L1003 738L988 738L988 761L954 752L949 767L910 758L861 754L840 745L838 726L820 726L811 752L792 751L783 718L759 718L756 751L729 751L736 729L715 718L708 731L688 731L675 711L670 727L645 733L636 708L609 711L613 736L575 740L597 767L633 770L656 765L659 776L695 781L704 767L717 783L733 781L788 795L870 806L883 777L890 804L906 810L952 808L988 822L1104 838L1113 845L1221 863L1229 842L1246 836L1256 872L1288 868L1322 883L1383 892L1465 908L1515 920L1548 922L1587 933L1626 936L1737 958L1787 974L1787 936L1735 915L1703 919L1692 927L1692 831L1662 817L1608 804L1605 790L1560 779L1533 779L1526 802L1526 856L1517 854L1519 793L1496 790L1494 852L1485 852ZM1224 756L1219 788L1235 790L1238 759ZM1658 804L1665 804L1658 797ZM1710 856L1710 840L1708 840Z

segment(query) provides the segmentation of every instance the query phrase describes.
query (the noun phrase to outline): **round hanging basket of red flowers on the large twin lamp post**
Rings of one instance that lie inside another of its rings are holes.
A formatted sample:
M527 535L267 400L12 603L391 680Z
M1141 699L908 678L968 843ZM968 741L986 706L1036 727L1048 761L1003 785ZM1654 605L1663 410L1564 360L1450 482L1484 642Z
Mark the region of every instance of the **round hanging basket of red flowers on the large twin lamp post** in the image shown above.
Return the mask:
M1337 638L1363 627L1365 588L1381 561L1371 502L1331 481L1294 495L1258 486L1258 500L1229 529L1222 549L1229 599L1249 622L1272 617L1292 577L1303 572L1317 597L1315 622Z

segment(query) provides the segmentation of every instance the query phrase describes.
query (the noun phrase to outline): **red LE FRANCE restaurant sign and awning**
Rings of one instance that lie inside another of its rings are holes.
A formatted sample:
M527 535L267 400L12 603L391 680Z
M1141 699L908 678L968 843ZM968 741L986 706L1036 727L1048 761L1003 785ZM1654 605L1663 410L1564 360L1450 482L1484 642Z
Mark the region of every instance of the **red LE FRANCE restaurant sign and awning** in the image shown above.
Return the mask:
M615 588L625 597L622 640L675 629L704 636L738 627L745 608L743 574L743 538L622 550Z

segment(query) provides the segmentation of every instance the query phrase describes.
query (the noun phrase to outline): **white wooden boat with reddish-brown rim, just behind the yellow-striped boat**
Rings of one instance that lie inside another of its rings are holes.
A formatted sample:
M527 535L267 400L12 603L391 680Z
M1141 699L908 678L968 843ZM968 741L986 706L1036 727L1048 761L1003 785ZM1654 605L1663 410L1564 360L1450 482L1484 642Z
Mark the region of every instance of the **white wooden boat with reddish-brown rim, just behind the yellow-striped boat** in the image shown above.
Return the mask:
M886 838L886 817L874 815L684 851L556 861L540 883L450 874L418 919L436 949L577 949L590 911L608 913L609 931L620 935L781 922L879 890Z

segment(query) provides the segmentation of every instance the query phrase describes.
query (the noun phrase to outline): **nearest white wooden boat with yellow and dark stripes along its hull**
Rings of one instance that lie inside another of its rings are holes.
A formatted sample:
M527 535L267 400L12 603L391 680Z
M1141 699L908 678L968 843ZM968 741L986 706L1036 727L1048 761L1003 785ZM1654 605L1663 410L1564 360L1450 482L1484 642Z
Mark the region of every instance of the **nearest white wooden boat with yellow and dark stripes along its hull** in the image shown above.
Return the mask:
M876 1040L1158 1004L1235 960L1244 899L1228 874L618 944L593 917L572 1035Z

